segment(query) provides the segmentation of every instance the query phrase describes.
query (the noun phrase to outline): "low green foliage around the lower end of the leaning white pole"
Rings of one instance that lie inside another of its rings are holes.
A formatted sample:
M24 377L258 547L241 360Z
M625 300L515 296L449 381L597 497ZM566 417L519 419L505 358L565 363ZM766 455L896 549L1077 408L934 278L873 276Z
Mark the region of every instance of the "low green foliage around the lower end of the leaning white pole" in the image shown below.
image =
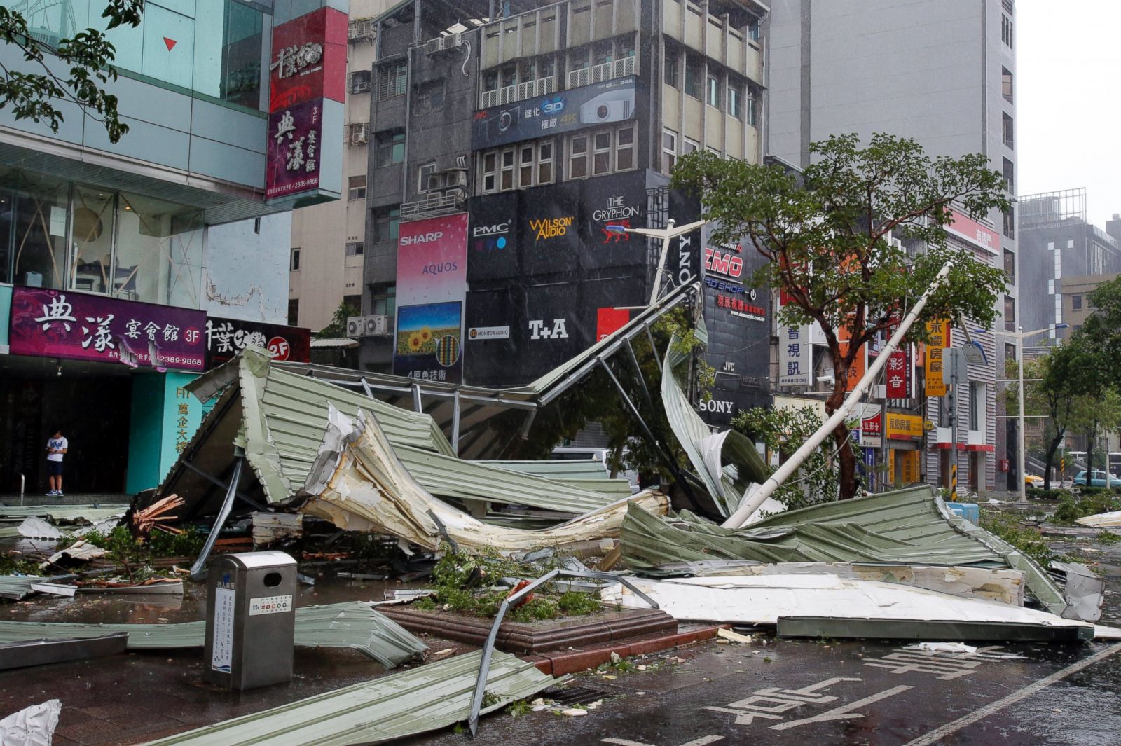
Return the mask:
M766 444L769 453L779 454L780 460L805 442L825 420L813 407L798 409L766 409L756 407L740 412L732 427L752 440ZM853 448L851 444L849 448ZM837 498L840 484L832 442L823 442L802 463L795 477L786 481L775 492L775 500L787 510L827 503Z

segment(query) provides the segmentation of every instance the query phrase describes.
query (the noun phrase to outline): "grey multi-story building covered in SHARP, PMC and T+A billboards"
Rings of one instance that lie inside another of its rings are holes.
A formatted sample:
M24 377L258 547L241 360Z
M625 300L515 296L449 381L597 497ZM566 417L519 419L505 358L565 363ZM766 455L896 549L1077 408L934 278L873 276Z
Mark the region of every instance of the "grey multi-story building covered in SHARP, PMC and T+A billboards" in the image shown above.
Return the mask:
M649 302L667 189L701 148L762 158L767 10L751 0L409 4L378 20L363 311L369 370L525 383ZM417 15L417 10L420 15ZM740 246L673 241L663 288L708 265L704 411L766 401L769 302ZM385 318L382 318L385 317ZM462 333L462 334L461 334ZM462 341L462 344L461 344ZM762 354L760 354L762 352Z

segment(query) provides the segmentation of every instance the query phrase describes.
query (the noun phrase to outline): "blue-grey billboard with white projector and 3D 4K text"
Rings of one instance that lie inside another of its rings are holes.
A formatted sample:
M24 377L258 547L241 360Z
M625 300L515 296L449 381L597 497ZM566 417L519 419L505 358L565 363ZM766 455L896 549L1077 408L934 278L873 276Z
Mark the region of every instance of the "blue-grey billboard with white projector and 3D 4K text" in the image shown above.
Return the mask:
M475 112L472 150L634 119L633 75Z

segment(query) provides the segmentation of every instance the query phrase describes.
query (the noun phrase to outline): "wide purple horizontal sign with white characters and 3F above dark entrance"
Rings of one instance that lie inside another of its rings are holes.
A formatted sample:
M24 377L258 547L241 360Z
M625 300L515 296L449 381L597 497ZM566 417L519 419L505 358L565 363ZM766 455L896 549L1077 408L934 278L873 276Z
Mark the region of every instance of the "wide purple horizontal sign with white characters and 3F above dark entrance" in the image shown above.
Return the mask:
M9 343L13 355L202 371L205 325L201 310L16 287Z

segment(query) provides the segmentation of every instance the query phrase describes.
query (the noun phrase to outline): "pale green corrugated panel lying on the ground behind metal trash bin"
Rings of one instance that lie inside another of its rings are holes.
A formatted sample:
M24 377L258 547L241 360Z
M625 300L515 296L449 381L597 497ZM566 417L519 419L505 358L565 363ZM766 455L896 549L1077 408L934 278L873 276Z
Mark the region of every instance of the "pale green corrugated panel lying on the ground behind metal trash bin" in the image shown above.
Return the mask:
M0 622L0 642L96 637L128 632L130 650L202 647L205 622L179 624L74 624ZM365 653L387 668L413 660L428 647L399 624L360 602L296 609L296 645L346 647Z

